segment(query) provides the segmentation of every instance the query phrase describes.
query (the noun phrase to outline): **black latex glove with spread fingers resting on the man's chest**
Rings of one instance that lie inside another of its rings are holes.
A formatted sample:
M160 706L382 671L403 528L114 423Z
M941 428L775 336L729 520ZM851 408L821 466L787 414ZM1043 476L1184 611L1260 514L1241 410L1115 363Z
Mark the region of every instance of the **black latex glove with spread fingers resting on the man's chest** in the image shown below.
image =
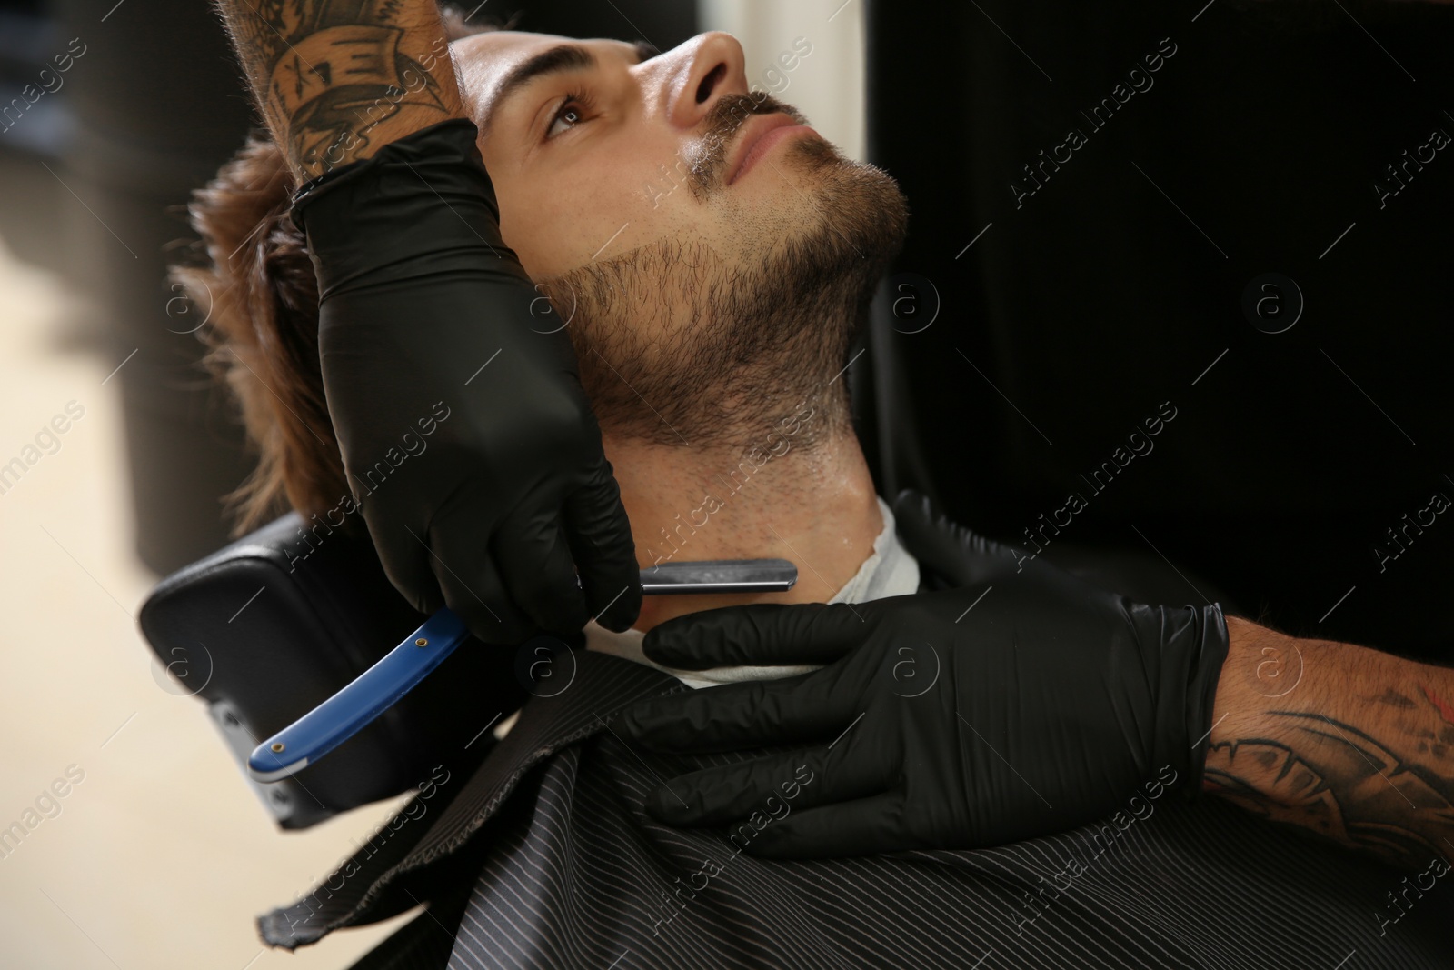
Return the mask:
M1124 809L1144 782L1200 785L1218 606L1133 604L1041 561L1019 572L922 496L894 515L922 567L971 585L712 609L646 636L648 657L680 669L830 665L630 708L619 724L653 750L804 746L675 778L647 798L653 817L760 813L749 852L840 857L1000 845Z

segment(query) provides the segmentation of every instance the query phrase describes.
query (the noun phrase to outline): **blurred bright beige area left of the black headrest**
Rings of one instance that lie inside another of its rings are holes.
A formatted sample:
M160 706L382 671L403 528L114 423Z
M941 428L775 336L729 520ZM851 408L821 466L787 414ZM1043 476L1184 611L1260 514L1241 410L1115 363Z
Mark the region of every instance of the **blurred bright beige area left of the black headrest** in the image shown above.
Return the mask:
M403 797L285 835L202 704L158 685L135 624L157 577L132 553L108 380L122 361L76 349L71 300L0 240L0 464L39 454L0 493L0 830L28 826L0 843L0 969L346 967L404 918L292 955L265 951L253 918ZM57 414L58 446L36 446Z

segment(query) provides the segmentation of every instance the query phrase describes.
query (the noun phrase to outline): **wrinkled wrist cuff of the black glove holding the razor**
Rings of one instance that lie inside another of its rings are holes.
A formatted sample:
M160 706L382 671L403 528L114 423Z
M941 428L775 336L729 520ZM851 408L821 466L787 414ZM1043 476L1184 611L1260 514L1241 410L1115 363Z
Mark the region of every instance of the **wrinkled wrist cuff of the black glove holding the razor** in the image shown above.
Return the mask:
M420 276L529 284L500 239L500 209L477 137L473 121L451 118L294 193L292 221L308 240L320 304Z

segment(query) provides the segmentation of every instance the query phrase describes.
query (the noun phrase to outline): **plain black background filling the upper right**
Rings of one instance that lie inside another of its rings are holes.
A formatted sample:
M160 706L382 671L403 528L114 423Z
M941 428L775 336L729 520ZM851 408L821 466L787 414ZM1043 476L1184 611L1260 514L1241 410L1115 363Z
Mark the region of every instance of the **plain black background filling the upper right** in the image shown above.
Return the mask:
M1051 541L1154 548L1290 631L1442 656L1454 528L1384 572L1373 545L1454 497L1454 153L1384 208L1373 186L1454 134L1454 9L981 6L868 7L869 150L913 207L896 269L942 302L922 333L878 316L885 400L859 413L912 417L875 435L880 484L1021 542L1080 493ZM1170 44L1104 127L1082 115ZM1086 144L1016 199L1069 129ZM1304 301L1284 333L1242 310L1269 272ZM1089 489L1163 401L1154 451Z

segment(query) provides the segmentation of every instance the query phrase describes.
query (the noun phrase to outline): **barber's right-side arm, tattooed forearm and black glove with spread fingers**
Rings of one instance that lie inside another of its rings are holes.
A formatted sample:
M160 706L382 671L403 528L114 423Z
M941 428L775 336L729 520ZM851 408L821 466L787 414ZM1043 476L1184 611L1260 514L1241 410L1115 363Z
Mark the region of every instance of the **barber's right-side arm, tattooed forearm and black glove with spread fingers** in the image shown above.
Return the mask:
M957 589L714 609L647 634L673 668L829 665L627 711L656 750L804 746L672 779L653 816L727 825L791 794L749 851L832 857L999 845L1205 788L1407 868L1454 858L1451 672L1021 569L922 496L894 512Z

